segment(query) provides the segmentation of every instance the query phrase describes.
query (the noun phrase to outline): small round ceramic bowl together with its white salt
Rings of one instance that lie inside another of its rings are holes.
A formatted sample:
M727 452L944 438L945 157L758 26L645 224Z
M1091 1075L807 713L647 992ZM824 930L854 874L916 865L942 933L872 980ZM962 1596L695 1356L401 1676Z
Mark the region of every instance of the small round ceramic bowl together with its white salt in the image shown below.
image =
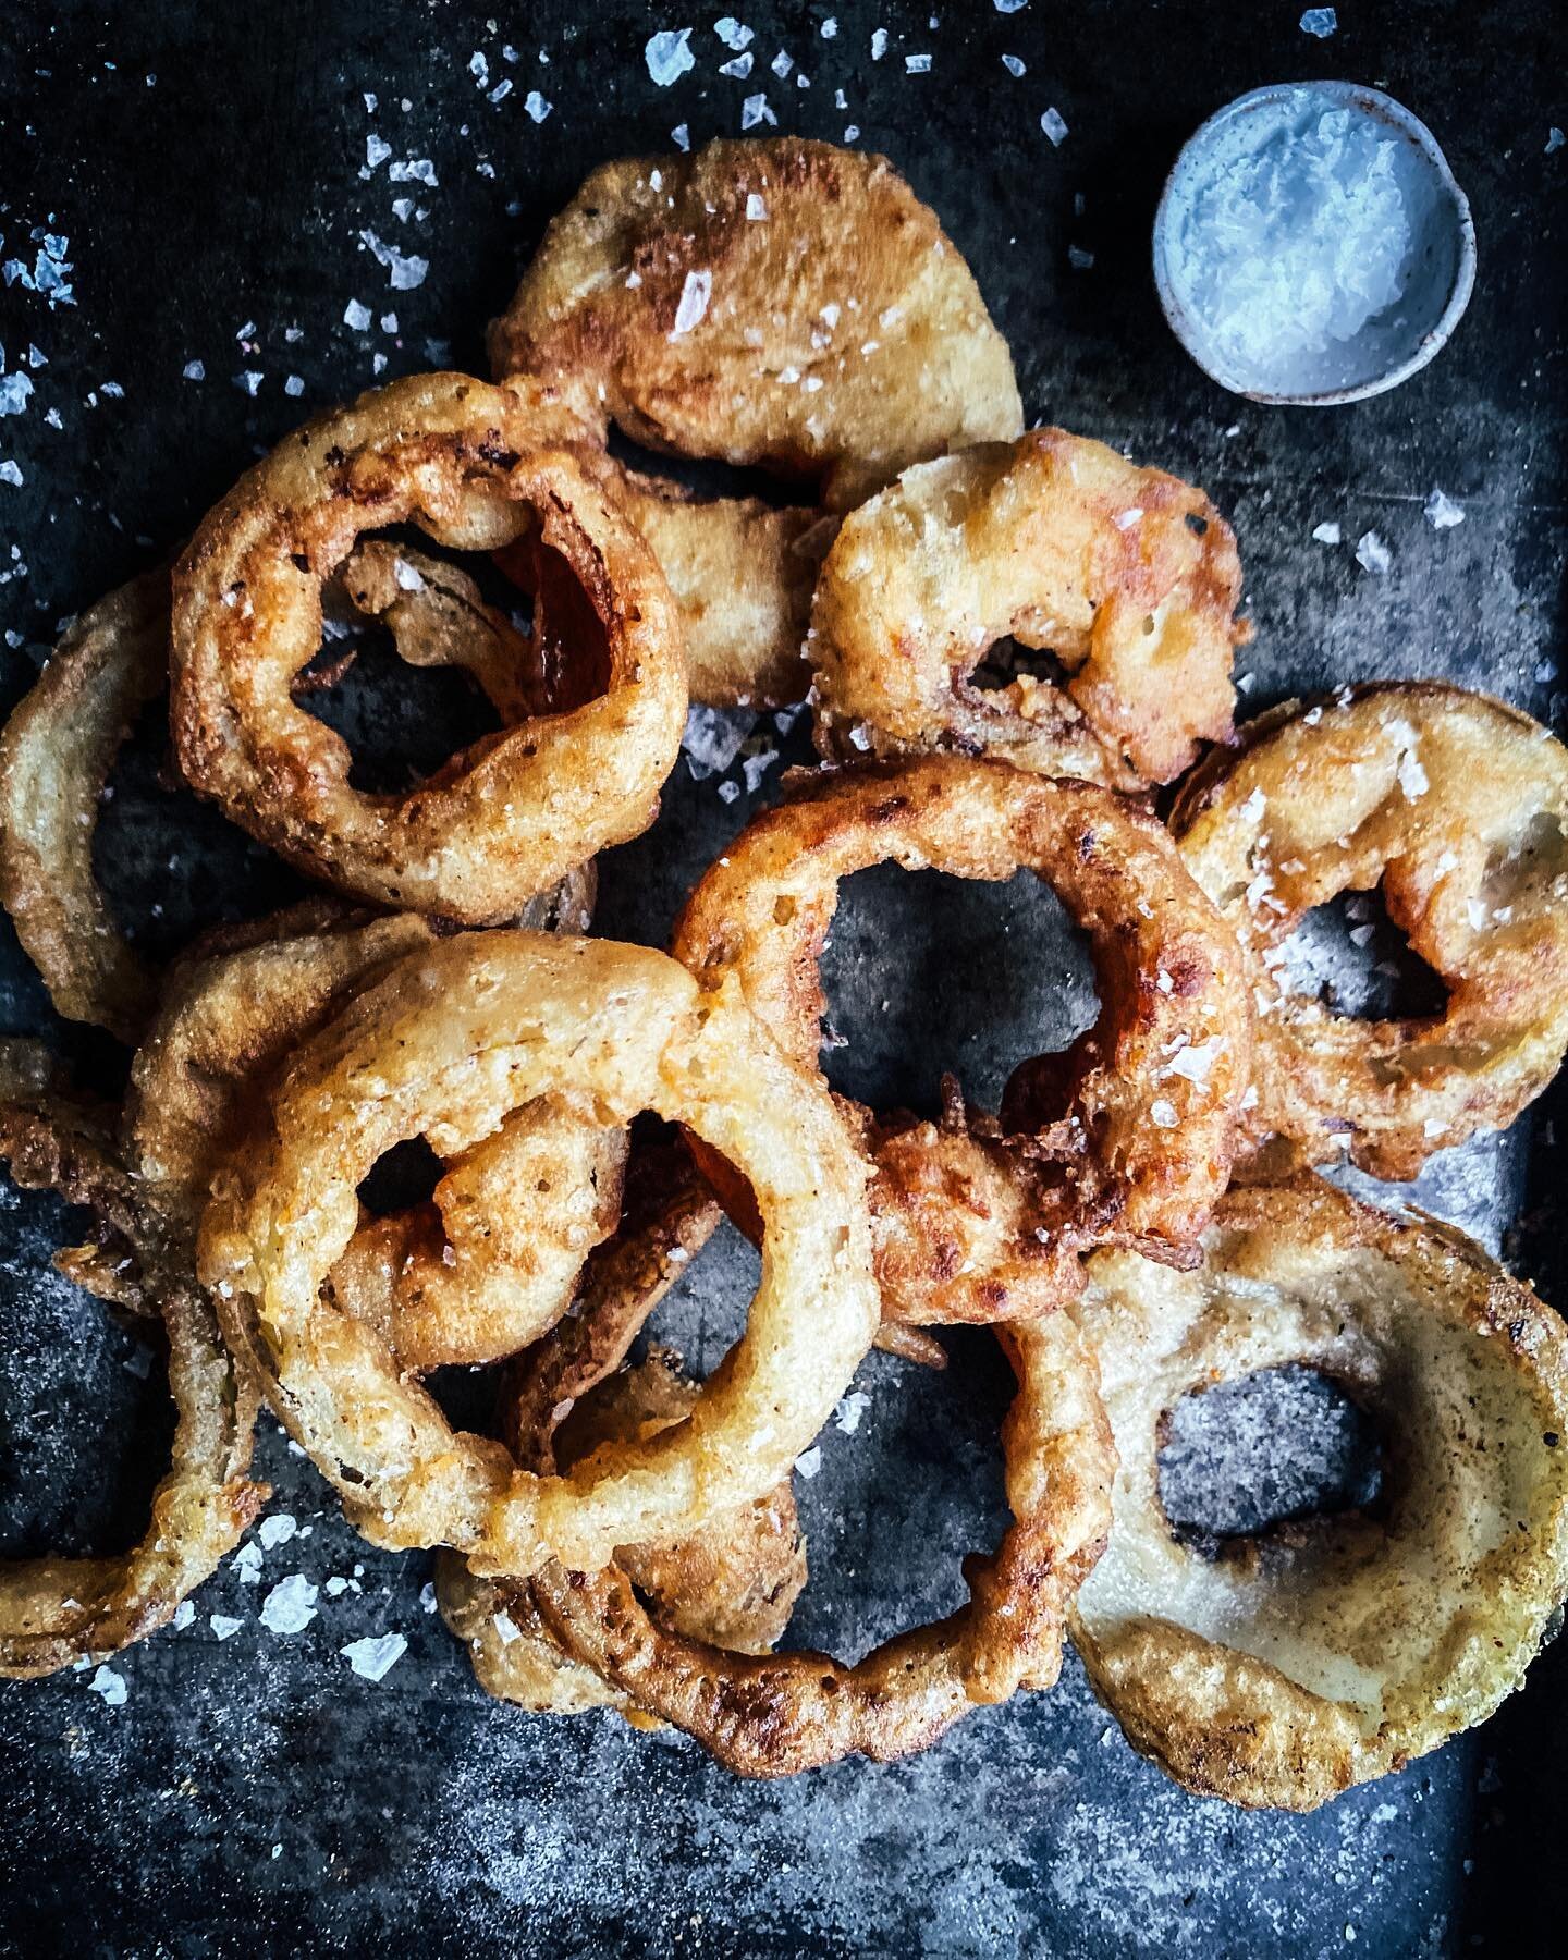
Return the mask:
M1192 359L1254 402L1329 406L1423 368L1470 300L1470 204L1423 122L1378 88L1256 88L1186 143L1154 284Z

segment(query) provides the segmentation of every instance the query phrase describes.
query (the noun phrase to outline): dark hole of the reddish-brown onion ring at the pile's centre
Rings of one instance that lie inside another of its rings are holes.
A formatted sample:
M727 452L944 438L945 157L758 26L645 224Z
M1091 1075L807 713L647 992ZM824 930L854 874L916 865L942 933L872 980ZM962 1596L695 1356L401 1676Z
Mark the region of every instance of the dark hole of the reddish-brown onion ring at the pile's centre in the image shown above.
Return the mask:
M1029 870L990 884L872 864L839 892L821 1066L841 1096L937 1117L925 1058L941 1054L970 1102L996 1109L1019 1062L1070 1047L1100 1017L1088 935Z

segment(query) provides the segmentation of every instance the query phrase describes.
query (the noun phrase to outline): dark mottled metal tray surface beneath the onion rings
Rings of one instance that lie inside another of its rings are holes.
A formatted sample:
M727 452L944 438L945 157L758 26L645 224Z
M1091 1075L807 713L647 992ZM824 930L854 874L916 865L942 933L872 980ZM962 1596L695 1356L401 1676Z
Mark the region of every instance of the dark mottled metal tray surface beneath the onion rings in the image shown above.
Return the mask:
M31 341L49 363L31 370L27 410L0 417L0 459L24 472L20 488L0 482L0 700L63 615L176 543L302 412L368 386L376 353L388 376L476 365L482 321L588 167L668 147L682 122L694 141L733 133L743 100L766 90L780 127L843 137L853 123L937 206L1013 345L1031 416L1192 476L1231 514L1258 627L1241 662L1249 706L1366 674L1454 674L1560 725L1568 151L1544 155L1564 122L1554 0L1350 0L1327 43L1298 31L1296 4L1031 0L1004 16L966 0L927 25L927 6L845 0L831 39L827 6L755 6L741 14L757 31L747 80L719 76L713 14L12 0L0 259L31 259L33 225L65 233L76 304L0 288L8 361ZM655 88L647 35L688 24L694 73ZM880 63L876 25L890 33ZM809 88L770 73L780 47ZM500 102L470 73L474 51L488 88L514 82ZM907 53L929 53L929 73L906 73ZM1004 53L1025 61L1021 78ZM1452 347L1396 394L1258 410L1170 341L1149 220L1209 110L1325 73L1386 86L1431 122L1474 204L1480 282ZM553 102L541 125L531 88ZM1049 106L1070 129L1060 149L1041 133ZM370 133L392 151L363 178ZM439 184L388 182L406 159L431 159ZM398 196L427 216L400 221ZM425 257L427 278L388 290L363 229ZM1068 245L1094 267L1070 269ZM351 298L396 310L396 327L351 331ZM253 351L235 339L247 321ZM182 378L190 361L204 382ZM245 370L261 376L255 396L231 382ZM1460 527L1423 521L1435 484L1464 506ZM1323 519L1341 547L1313 543ZM1352 557L1372 527L1394 555L1386 576ZM149 739L104 825L127 919L176 943L280 896L259 853L157 790L155 764ZM682 764L659 827L604 866L602 929L659 943L776 780L772 766L755 798L723 802ZM929 1103L943 1064L992 1094L1041 1025L1064 1039L1090 1005L1056 907L1025 882L868 874L829 970L849 1037L835 1068L884 1102ZM10 937L0 1013L49 1027ZM65 1039L108 1080L106 1045ZM1556 1303L1552 1121L1566 1115L1558 1090L1501 1145L1441 1160L1421 1192L1494 1245L1521 1217L1513 1256ZM4 1203L0 1546L123 1543L163 1435L157 1374L129 1374L133 1343L49 1272L57 1207ZM696 1360L733 1331L745 1280L741 1249L715 1247L668 1315ZM821 1474L800 1484L815 1572L802 1637L858 1650L958 1597L962 1550L996 1529L1004 1370L984 1337L955 1360L945 1380L870 1366L858 1429L823 1439ZM541 1956L1560 1950L1562 1648L1480 1737L1311 1819L1182 1795L1125 1748L1072 1666L1054 1695L978 1713L913 1762L743 1786L613 1717L551 1725L486 1703L419 1609L427 1560L361 1546L270 1425L261 1458L302 1535L267 1554L259 1590L225 1570L188 1631L116 1662L123 1707L73 1676L0 1686L0 1950L365 1952L390 1936ZM269 1635L259 1599L294 1572L359 1572L363 1590L323 1592L302 1635ZM214 1613L241 1631L220 1644ZM372 1686L337 1650L386 1629L410 1650Z

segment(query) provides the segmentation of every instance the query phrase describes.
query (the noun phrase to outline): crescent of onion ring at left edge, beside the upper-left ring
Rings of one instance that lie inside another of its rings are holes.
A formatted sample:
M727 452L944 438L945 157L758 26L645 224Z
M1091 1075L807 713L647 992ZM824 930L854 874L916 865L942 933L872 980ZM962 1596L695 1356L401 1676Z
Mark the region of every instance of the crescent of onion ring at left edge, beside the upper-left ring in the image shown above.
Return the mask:
M98 802L169 678L169 570L98 600L0 735L0 902L55 1007L135 1041L155 982L92 872Z

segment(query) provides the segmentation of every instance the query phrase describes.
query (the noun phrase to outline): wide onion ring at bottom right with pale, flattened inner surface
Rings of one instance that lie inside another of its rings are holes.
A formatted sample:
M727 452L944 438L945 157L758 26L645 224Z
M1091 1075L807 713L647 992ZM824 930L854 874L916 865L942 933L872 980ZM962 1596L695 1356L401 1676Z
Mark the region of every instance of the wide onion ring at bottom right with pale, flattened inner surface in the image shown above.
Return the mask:
M1484 1721L1568 1592L1568 1337L1460 1233L1317 1178L1225 1198L1198 1272L1092 1260L1074 1307L1121 1472L1072 1637L1127 1739L1200 1795L1313 1809ZM1307 1364L1380 1421L1372 1511L1217 1558L1158 1497L1182 1396Z

